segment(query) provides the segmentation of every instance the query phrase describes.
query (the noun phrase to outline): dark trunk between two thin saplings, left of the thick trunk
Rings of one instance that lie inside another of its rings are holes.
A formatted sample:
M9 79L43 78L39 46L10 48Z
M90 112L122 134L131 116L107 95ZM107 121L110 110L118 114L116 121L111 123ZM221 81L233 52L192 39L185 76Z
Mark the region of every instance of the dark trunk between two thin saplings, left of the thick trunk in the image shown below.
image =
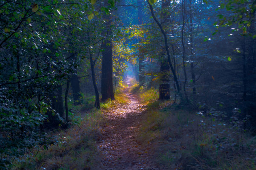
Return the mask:
M74 105L79 105L81 104L80 85L79 85L80 82L76 73L72 75L72 77L70 78L70 82L71 82L71 88L73 91Z

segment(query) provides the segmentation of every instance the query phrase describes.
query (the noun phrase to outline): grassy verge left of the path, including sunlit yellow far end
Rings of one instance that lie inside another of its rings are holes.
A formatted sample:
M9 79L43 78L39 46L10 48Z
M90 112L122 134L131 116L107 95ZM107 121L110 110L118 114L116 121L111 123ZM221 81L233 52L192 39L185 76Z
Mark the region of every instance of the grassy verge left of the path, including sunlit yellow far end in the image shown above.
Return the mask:
M101 103L101 109L93 108L93 98L83 105L69 105L71 126L66 130L49 133L52 144L35 146L28 153L13 161L12 170L93 170L97 169L101 153L97 140L101 136L101 125L106 123L104 112L118 103L128 102L120 88L116 100Z

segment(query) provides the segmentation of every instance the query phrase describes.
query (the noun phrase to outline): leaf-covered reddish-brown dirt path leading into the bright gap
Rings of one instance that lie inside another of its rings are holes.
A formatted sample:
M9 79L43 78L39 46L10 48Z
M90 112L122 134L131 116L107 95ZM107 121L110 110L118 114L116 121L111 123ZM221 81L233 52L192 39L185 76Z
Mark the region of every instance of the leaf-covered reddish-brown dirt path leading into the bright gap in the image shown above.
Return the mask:
M102 152L102 170L158 170L150 159L149 148L137 141L137 134L143 121L142 105L136 95L131 94L130 80L126 80L128 88L123 93L129 99L126 104L117 104L105 115L107 125L102 127L102 137L98 149Z

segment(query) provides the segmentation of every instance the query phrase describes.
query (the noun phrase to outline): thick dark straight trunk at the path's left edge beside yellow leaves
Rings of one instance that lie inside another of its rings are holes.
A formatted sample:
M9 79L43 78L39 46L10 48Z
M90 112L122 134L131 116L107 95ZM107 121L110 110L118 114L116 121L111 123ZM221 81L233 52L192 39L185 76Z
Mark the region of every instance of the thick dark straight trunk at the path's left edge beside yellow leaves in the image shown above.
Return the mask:
M112 42L105 40L102 44L102 48L102 101L107 99L114 100Z

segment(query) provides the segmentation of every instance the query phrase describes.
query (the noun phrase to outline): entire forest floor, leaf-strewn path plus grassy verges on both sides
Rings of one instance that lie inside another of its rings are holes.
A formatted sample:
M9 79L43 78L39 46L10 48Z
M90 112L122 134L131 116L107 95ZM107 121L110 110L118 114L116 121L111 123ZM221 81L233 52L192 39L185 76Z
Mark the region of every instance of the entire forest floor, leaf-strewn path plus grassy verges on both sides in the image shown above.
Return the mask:
M159 101L129 79L101 110L73 116L73 125L34 147L13 170L255 170L256 138L236 119ZM133 82L131 84L131 82Z

